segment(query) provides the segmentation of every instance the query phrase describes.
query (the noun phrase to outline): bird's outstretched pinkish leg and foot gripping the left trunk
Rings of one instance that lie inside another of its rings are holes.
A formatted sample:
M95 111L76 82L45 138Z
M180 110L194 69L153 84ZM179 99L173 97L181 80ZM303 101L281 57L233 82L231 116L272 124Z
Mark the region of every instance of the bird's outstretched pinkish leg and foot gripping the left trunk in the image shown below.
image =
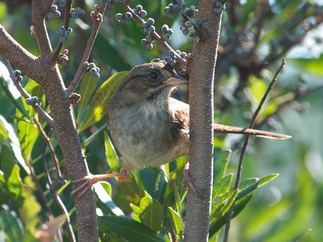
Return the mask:
M87 190L92 188L92 185L96 184L99 180L109 177L116 177L116 176L126 176L126 171L122 169L119 173L112 173L112 174L100 174L100 175L87 175L83 178L71 180L71 183L82 183L76 189L74 189L71 193L72 196L78 194L77 197L81 197Z

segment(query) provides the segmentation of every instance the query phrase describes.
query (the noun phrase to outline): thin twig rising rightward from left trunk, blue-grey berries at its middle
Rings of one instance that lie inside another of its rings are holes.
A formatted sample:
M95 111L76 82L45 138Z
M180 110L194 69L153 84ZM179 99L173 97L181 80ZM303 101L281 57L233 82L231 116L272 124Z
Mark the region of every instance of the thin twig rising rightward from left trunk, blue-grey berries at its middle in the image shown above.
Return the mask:
M106 7L106 4L101 4L101 6L100 6L100 14L102 14L102 16L104 15L105 7ZM82 76L84 74L83 63L86 62L88 60L89 56L90 56L94 40L95 40L96 35L97 35L98 31L99 31L100 24L101 24L101 22L95 21L95 23L93 25L93 28L92 28L90 37L89 37L89 39L87 41L87 44L86 44L86 47L85 47L85 50L84 50L83 57L81 59L81 63L79 65L79 68L78 68L78 70L77 70L77 72L76 72L76 74L74 76L74 79L71 82L70 86L66 89L67 92L69 93L69 95L73 93L73 91L77 87L78 83L80 82L80 80L81 80L81 78L82 78Z

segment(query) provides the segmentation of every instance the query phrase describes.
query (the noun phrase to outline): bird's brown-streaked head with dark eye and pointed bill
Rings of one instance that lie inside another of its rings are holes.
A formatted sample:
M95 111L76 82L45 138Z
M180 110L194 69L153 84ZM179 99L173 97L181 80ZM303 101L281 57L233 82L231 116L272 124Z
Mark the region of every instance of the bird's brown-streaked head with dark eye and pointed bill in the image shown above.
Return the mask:
M165 62L143 64L131 69L124 77L111 103L129 105L147 100L160 104L168 101L176 86L187 82Z

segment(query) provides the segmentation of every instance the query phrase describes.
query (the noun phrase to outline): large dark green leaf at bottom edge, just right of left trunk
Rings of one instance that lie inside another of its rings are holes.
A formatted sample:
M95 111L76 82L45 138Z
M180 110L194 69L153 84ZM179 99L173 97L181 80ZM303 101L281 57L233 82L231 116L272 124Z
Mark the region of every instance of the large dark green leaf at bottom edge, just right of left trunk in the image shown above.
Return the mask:
M100 231L107 233L110 229L129 242L165 242L145 225L128 217L100 216L98 225Z

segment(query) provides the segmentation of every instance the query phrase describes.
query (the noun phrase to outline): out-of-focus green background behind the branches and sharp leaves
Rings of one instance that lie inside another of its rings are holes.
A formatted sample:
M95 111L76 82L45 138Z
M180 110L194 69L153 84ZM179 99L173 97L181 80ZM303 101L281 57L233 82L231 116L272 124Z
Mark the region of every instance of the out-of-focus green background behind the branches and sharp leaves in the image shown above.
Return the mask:
M30 2L0 1L0 24L37 56L37 44L29 30ZM161 26L168 24L175 32L170 40L171 46L191 52L193 41L180 31L181 17L175 15L170 19L164 14L164 7L170 2L134 0L131 6L134 8L141 4L148 13L146 18L154 18L159 33ZM73 6L81 6L89 13L97 3L99 1L79 0ZM198 1L185 3L187 6L197 6ZM323 241L323 2L231 0L226 6L216 67L215 122L249 126L267 83L274 76L282 58L286 57L287 64L257 118L256 127L293 136L286 141L251 139L243 163L242 178L263 177L271 173L280 175L257 189L245 209L233 219L229 241L294 241L309 228L312 231L297 241ZM64 9L59 10L64 16ZM107 9L91 53L91 59L95 59L101 69L97 88L116 72L129 71L136 65L167 55L167 51L156 41L152 50L141 46L140 40L145 35L140 24L134 21L126 24L117 22L114 16L120 12L123 11L118 6ZM56 31L63 24L62 17L46 20L53 48L58 43ZM92 24L88 15L70 22L73 34L63 46L69 49L69 62L60 67L66 85L76 73ZM181 70L180 65L176 68ZM0 74L4 72L4 67L0 66ZM28 78L24 76L23 84L27 81ZM187 92L188 87L181 87L174 96L188 102ZM0 88L0 115L15 126L16 106L3 88ZM78 115L79 120L84 118L84 113L83 116ZM80 133L81 140L86 140L105 122L105 118L102 118L85 129ZM216 155L220 149L232 149L228 172L234 175L242 142L243 137L238 135L214 138ZM5 144L3 137L0 137L0 144ZM42 144L42 139L38 137L31 153L32 159L40 155ZM57 152L62 158L59 149ZM86 146L86 156L91 173L99 174L109 169L103 132ZM37 174L43 172L41 162L35 161L34 166ZM22 177L26 176L21 172ZM154 172L154 169L146 168L141 174L148 176ZM41 179L45 188L45 180ZM62 194L68 210L73 207L69 192ZM113 190L113 197L124 212L130 209L125 205L127 202L121 193ZM11 201L0 200L0 203L11 206ZM57 209L53 208L53 211L59 214ZM42 210L37 222L46 221L45 218L45 211ZM221 240L222 232L219 234Z

